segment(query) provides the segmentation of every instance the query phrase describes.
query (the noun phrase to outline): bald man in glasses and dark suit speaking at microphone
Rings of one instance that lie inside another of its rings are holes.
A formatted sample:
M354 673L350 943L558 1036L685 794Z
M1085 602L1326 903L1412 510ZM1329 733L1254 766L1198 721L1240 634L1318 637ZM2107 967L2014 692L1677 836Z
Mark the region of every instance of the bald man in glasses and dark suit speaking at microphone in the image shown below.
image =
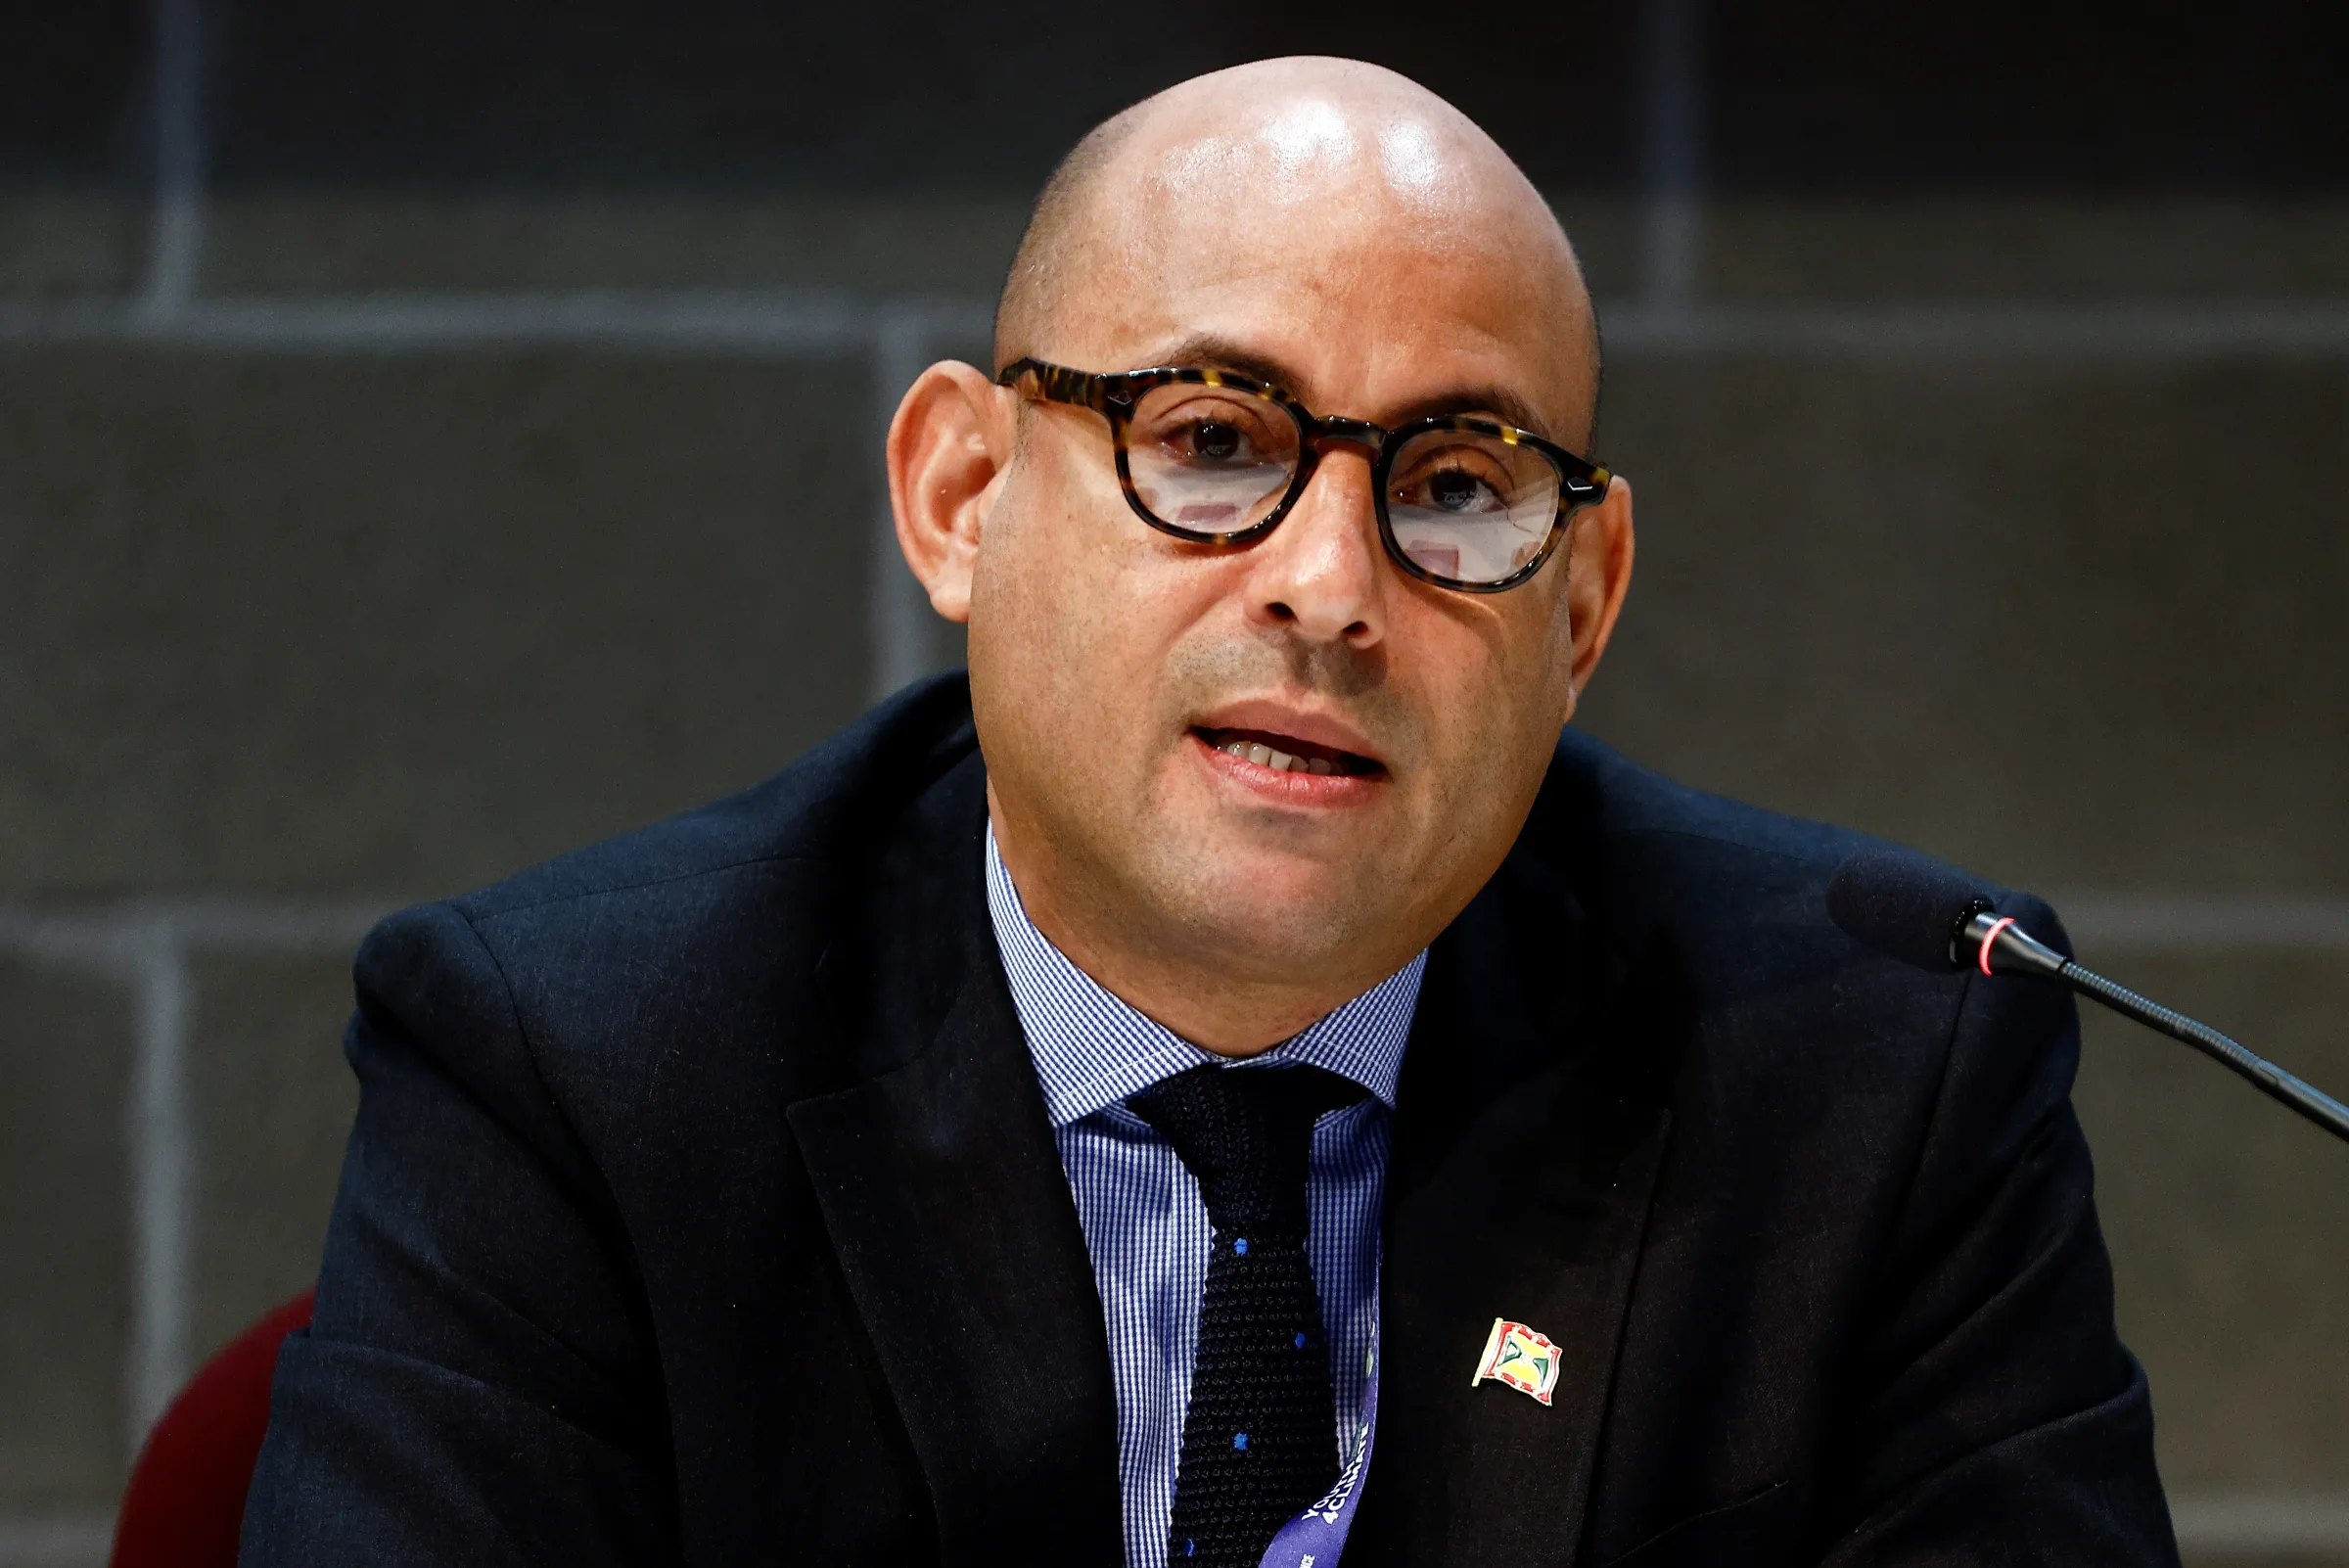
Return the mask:
M1597 373L1402 77L1088 136L888 439L968 678L362 948L244 1561L2173 1563L2069 1002L1564 728Z

